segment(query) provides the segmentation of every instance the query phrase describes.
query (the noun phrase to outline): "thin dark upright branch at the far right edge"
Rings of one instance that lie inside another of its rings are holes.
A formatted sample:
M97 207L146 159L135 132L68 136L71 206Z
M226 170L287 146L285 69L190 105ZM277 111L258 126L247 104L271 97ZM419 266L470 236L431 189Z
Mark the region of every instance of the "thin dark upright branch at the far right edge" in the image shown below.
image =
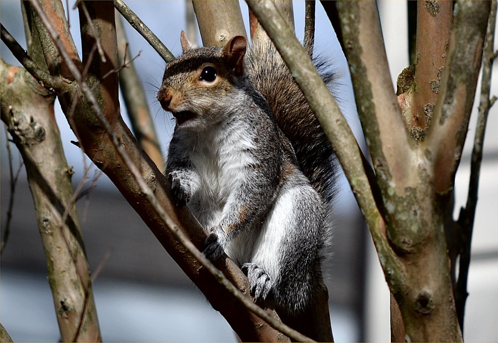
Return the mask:
M471 257L472 232L474 228L474 219L476 215L479 177L481 172L481 164L483 160L483 144L484 135L486 133L486 123L488 122L488 114L491 108L490 88L491 76L493 70L493 62L496 56L493 53L495 26L497 20L497 1L493 1L491 12L488 19L488 29L486 32L486 43L483 56L483 72L481 79L481 100L479 105L479 113L476 124L476 134L474 137L474 147L472 149L472 162L469 180L469 191L467 195L467 204L465 209L460 211L458 222L462 228L462 250L460 253L460 264L458 281L456 285L456 308L460 328L463 331L465 303L467 296L467 280L469 275L469 265Z

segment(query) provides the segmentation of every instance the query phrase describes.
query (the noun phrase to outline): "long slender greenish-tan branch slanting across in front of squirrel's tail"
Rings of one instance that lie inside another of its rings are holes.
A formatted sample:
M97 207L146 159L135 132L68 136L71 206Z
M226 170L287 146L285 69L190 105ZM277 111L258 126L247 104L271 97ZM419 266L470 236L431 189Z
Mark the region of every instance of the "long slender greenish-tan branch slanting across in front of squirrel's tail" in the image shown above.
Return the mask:
M393 289L398 289L404 273L382 233L383 220L375 206L362 153L349 125L308 54L272 2L248 1L248 5L282 55L330 139L370 229L388 283Z

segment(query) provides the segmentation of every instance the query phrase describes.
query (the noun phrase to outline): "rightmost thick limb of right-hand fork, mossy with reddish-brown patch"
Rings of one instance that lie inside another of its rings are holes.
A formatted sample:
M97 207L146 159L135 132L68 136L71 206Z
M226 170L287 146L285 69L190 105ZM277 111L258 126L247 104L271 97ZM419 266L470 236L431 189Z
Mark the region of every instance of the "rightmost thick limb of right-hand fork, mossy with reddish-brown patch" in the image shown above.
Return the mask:
M467 135L481 65L490 1L458 1L446 68L425 140L436 192L452 191ZM465 44L462 44L465 42Z

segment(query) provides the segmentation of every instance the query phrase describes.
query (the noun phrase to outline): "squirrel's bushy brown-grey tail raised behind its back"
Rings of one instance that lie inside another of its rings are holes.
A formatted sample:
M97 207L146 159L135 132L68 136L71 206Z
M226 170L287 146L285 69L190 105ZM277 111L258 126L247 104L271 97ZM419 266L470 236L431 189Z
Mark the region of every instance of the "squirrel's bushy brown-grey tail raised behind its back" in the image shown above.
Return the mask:
M339 164L318 119L273 44L253 44L248 57L254 87L266 98L276 123L289 138L301 170L330 206ZM331 83L331 66L320 59L313 62L325 83Z

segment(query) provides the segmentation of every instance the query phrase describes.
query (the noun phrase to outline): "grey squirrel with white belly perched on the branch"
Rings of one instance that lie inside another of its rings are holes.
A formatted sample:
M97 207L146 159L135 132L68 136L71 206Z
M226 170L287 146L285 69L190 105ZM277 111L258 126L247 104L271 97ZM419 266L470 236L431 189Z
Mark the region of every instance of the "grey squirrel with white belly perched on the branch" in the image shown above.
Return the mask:
M176 119L165 175L177 206L209 230L203 253L225 252L256 303L302 313L322 277L337 163L274 46L194 47L166 66L157 94ZM333 78L316 63L325 82Z

